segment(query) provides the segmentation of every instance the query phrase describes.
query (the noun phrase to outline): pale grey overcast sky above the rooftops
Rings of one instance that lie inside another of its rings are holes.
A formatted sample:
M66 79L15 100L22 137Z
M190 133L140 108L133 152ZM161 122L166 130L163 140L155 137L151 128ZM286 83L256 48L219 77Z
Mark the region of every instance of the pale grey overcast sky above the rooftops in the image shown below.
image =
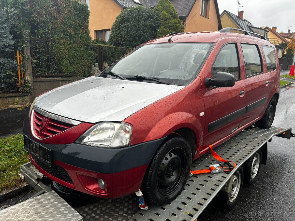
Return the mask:
M238 13L237 0L217 0L220 14L230 11ZM255 27L277 27L277 32L295 32L295 0L240 0L244 19L250 21Z

